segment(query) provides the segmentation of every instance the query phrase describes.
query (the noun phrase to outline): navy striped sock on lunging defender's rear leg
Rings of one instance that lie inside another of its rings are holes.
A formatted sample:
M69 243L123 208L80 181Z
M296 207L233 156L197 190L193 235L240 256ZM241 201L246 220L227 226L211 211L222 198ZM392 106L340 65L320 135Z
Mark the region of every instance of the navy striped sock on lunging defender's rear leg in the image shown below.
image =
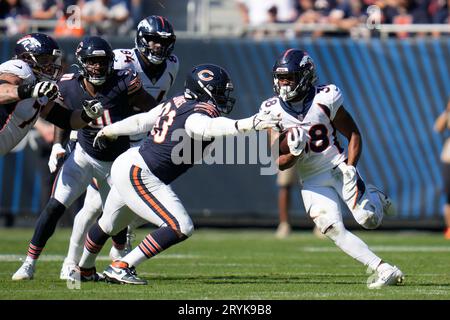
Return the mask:
M105 233L96 222L89 230L84 243L83 256L80 259L80 268L88 269L95 266L95 259L110 236Z

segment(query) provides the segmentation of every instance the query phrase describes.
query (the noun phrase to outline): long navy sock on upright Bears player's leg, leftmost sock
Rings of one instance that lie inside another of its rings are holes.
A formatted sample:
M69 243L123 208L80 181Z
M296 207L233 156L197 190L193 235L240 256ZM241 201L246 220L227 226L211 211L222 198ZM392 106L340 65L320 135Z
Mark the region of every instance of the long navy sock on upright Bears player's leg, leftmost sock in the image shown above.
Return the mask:
M39 259L47 240L50 239L55 232L58 220L62 217L65 210L66 207L55 198L50 198L47 202L47 205L41 212L41 215L36 222L33 237L31 238L30 245L28 246L27 256L30 259Z

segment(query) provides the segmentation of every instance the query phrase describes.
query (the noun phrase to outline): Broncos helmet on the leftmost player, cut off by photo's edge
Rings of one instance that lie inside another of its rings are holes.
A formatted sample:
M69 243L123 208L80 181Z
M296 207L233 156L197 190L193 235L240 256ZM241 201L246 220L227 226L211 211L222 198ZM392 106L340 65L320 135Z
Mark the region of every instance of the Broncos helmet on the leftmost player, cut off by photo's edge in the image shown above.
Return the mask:
M46 34L30 33L17 40L13 58L25 61L38 81L57 81L61 77L62 52Z

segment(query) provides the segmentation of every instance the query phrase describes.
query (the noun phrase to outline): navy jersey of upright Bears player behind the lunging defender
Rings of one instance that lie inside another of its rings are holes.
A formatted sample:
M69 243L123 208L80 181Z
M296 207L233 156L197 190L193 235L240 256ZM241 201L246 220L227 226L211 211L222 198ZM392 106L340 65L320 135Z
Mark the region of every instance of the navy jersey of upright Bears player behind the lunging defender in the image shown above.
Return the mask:
M99 100L103 105L103 116L78 130L78 142L91 157L101 161L114 161L130 147L128 136L121 136L117 140L108 142L108 147L104 150L95 148L92 144L97 132L103 127L133 114L133 107L128 103L128 96L142 87L140 78L135 72L128 69L114 70L95 97L86 91L79 74L63 75L58 86L61 100L59 102L69 109L82 109L82 102L92 99Z

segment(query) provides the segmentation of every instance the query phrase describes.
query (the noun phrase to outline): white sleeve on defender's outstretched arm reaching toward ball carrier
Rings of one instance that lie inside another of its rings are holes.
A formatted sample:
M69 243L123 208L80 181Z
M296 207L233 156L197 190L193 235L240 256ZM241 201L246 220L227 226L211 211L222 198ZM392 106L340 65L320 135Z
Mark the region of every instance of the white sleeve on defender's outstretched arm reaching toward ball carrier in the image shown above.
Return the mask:
M211 118L205 114L194 113L186 119L187 134L195 140L210 140L214 137L236 135L236 120L225 117Z

